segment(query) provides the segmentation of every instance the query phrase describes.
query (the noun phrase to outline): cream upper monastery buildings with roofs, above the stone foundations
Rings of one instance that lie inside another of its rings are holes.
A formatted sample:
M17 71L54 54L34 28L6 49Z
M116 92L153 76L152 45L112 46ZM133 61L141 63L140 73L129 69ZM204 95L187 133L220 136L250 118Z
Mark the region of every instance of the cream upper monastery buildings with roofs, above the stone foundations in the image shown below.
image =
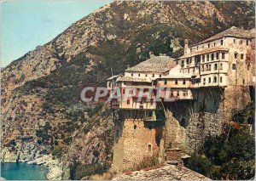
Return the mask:
M178 59L153 56L122 75L108 78L108 89L120 88L123 97L126 88L146 91L164 88L160 98L166 98L166 88L172 88L168 98L193 99L193 88L252 85L254 37L254 29L247 31L233 26L191 46L186 39L183 56ZM156 109L155 97L149 102L145 99L138 103L135 95L119 103L113 100L113 105L121 109Z

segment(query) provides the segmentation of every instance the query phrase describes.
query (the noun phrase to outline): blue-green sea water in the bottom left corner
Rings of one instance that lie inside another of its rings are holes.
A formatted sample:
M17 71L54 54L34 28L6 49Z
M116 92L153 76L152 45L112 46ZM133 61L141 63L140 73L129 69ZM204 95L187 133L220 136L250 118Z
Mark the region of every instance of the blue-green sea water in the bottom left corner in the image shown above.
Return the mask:
M44 180L47 168L24 162L1 163L1 177L7 180Z

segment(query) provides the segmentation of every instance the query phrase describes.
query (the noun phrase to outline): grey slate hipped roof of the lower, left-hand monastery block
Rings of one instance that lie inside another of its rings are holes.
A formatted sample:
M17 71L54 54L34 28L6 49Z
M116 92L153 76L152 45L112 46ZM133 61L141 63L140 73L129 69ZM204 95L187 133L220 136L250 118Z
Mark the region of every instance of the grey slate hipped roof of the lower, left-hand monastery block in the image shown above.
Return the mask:
M158 72L163 73L169 71L176 64L171 57L168 56L153 56L138 65L130 67L125 71L139 71L139 72Z

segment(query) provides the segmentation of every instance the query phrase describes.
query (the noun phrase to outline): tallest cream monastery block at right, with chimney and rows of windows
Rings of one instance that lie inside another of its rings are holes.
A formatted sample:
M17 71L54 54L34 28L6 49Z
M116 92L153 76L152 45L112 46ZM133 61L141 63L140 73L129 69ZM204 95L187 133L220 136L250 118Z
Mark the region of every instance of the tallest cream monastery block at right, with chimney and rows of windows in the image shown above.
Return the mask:
M191 46L185 40L184 54L176 61L183 73L191 76L191 88L253 82L253 66L247 55L254 50L254 37L254 29L247 31L233 26Z

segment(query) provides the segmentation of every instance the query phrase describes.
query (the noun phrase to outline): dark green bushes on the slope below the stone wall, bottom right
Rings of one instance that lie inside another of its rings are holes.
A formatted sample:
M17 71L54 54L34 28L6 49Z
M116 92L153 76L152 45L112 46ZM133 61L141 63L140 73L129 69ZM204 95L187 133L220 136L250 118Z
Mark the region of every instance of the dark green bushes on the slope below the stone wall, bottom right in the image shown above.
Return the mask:
M222 135L208 138L187 167L212 179L250 179L255 175L254 106L236 111Z

